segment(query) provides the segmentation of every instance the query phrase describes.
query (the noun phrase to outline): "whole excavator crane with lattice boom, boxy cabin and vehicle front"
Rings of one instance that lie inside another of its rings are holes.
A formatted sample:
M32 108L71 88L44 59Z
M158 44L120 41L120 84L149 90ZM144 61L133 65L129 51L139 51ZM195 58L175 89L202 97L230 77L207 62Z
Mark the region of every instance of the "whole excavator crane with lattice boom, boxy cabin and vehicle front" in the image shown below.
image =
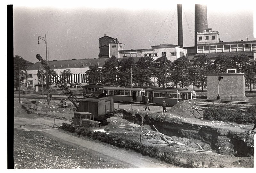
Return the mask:
M43 65L48 75L56 81L59 89L62 90L65 96L76 107L77 110L74 112L73 124L86 128L100 127L101 124L107 122L107 118L114 115L113 98L104 97L104 94L102 94L97 98L78 99L60 76L49 67L40 54L37 54L36 58Z

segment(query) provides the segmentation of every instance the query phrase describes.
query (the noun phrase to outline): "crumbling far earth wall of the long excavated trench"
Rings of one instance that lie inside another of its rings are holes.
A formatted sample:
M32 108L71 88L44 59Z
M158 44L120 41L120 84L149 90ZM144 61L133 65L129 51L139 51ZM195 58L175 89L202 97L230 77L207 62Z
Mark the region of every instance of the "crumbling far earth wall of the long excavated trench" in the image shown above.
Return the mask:
M210 151L215 153L237 157L254 156L254 132L211 126L202 119L190 121L178 116L140 110L116 109L115 114L137 124L144 117L143 125L149 125L152 130L156 127L161 134L169 137L187 138L193 143L200 141L202 146L210 147Z

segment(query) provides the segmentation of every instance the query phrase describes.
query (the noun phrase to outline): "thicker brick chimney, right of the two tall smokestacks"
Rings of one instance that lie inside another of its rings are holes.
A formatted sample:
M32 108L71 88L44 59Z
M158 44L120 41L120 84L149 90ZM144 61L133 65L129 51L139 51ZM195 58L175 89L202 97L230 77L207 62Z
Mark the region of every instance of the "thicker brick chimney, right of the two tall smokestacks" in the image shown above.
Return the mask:
M196 32L203 32L208 28L206 4L195 4L195 46L197 46Z

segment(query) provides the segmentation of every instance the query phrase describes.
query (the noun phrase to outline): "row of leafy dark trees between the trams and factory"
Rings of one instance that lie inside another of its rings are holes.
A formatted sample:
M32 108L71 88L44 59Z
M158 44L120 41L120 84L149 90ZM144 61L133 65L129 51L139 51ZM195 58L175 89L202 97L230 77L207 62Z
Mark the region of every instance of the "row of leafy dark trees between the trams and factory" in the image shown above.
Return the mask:
M256 83L254 74L256 72L256 61L250 61L246 54L227 57L219 57L211 62L205 55L196 57L194 63L191 63L185 56L171 62L166 57L160 57L153 60L152 57L141 57L135 63L133 57L121 59L115 57L105 61L102 68L98 65L92 65L86 71L89 83L131 85L132 82L139 85L153 85L152 78L155 77L159 86L193 87L207 86L208 73L226 73L227 68L235 68L237 73L245 74L245 86L251 86Z

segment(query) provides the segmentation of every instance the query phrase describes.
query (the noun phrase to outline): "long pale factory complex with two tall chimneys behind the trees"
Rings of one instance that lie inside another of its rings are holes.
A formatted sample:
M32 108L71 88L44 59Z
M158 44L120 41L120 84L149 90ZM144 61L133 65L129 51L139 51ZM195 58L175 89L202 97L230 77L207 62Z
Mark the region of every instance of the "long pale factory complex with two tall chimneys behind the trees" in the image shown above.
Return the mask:
M104 65L104 61L112 55L118 59L133 57L136 61L142 56L153 57L154 60L166 56L174 61L182 56L186 56L191 62L198 56L206 55L207 58L214 61L220 54L229 57L245 53L251 60L256 59L256 41L234 41L223 42L220 39L218 31L208 28L207 7L202 4L195 4L195 41L193 47L183 47L183 29L182 29L182 5L178 4L178 45L166 43L151 46L151 49L125 49L124 43L119 43L117 38L105 34L99 38L98 59L70 59L48 61L55 71L60 75L65 69L72 72L71 81L74 83L87 84L86 71L90 65L97 64L99 67ZM88 58L88 57L87 57ZM28 68L29 85L38 84L37 71L43 69L37 62Z

